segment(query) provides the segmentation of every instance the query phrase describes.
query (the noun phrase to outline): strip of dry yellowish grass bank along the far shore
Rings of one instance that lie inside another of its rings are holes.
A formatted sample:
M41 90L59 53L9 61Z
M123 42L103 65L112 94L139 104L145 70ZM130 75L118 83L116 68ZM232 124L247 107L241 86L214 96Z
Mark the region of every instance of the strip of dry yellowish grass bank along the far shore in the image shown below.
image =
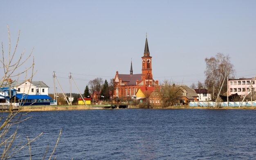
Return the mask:
M21 111L68 111L68 110L92 110L106 109L103 106L85 105L42 105L42 106L23 106ZM117 108L118 109L118 108ZM128 106L128 109L139 109L139 106ZM153 106L150 109L256 109L256 107L189 107L189 106Z

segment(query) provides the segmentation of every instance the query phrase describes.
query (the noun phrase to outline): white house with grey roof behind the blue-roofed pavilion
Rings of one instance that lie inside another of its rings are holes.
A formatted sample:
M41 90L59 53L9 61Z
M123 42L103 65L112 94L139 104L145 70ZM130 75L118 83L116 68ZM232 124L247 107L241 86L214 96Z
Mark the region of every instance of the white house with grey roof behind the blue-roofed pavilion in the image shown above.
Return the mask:
M21 82L15 86L17 93L25 93L28 95L48 95L49 87L43 81Z

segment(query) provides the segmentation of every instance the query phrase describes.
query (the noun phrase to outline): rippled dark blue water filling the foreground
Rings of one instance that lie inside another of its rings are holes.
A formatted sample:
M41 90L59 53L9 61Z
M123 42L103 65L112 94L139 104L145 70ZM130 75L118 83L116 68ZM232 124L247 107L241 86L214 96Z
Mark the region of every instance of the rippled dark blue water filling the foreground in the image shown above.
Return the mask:
M32 159L254 159L256 110L106 109L30 112L20 137ZM25 147L12 159L29 159Z

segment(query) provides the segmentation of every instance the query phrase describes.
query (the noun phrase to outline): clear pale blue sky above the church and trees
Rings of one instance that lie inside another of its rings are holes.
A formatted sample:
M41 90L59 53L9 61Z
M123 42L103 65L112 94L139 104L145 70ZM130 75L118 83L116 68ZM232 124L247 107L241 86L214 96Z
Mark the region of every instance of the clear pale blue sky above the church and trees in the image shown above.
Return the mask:
M146 33L159 83L204 82L204 59L217 53L231 57L235 78L256 75L255 0L1 0L0 6L5 53L8 25L11 51L20 30L16 54L34 48L33 80L45 82L49 93L53 71L65 93L70 73L81 93L94 78L129 74L131 60L133 73L141 73Z

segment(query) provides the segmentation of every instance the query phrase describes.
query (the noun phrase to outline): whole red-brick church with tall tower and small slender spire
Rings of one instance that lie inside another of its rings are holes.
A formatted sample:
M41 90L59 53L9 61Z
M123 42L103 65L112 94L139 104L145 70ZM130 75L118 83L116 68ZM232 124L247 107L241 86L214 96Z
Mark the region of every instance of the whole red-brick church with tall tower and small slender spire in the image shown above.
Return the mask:
M152 75L152 57L148 49L148 40L146 38L144 56L141 57L142 69L141 74L133 74L132 62L130 67L130 74L115 75L114 98L129 98L134 97L139 87L155 87L158 86L158 80L153 79Z

